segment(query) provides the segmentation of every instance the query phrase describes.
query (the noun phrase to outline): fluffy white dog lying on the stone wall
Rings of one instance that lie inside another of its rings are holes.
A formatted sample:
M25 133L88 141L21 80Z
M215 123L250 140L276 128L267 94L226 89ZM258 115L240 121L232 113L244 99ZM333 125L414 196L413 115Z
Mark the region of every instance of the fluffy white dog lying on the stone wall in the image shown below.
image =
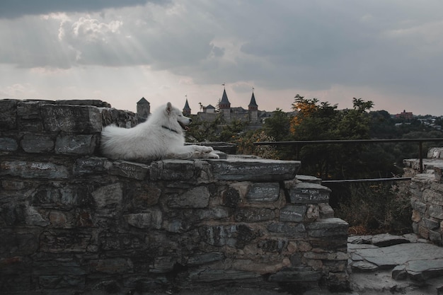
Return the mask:
M101 151L122 160L161 158L219 158L209 146L185 145L184 130L191 119L171 103L149 115L148 120L130 129L115 125L101 132Z

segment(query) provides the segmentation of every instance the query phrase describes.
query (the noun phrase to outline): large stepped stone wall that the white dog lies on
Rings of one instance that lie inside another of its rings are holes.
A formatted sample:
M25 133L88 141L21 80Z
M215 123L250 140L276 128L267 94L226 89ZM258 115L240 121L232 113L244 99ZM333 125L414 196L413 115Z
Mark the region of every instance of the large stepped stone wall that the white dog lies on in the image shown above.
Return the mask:
M99 100L0 110L1 294L348 287L347 223L299 161L110 161L102 126L130 127L131 112Z

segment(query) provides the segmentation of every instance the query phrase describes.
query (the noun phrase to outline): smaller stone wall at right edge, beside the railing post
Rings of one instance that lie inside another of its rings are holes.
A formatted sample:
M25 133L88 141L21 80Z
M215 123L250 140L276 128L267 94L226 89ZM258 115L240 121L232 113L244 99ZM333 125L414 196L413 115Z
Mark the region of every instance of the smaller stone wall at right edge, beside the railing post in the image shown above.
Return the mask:
M413 231L422 238L443 245L443 148L428 151L427 158L423 160L422 173L418 159L403 162L405 176L412 177L410 192Z

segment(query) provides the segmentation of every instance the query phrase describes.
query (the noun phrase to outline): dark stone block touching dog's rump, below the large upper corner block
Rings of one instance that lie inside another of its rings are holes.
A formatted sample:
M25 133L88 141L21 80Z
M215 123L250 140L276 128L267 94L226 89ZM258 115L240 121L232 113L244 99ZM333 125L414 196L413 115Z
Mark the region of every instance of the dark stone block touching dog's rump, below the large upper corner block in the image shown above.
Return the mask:
M92 134L60 135L55 141L55 154L92 155L98 136Z

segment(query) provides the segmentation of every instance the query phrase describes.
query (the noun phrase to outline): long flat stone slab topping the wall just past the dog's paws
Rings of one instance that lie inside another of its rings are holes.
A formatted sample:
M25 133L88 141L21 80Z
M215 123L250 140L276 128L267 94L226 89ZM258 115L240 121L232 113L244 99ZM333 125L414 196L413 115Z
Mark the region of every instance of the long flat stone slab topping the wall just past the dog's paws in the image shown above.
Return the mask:
M228 158L208 162L217 180L236 181L280 181L294 179L300 161L278 161L269 159Z

